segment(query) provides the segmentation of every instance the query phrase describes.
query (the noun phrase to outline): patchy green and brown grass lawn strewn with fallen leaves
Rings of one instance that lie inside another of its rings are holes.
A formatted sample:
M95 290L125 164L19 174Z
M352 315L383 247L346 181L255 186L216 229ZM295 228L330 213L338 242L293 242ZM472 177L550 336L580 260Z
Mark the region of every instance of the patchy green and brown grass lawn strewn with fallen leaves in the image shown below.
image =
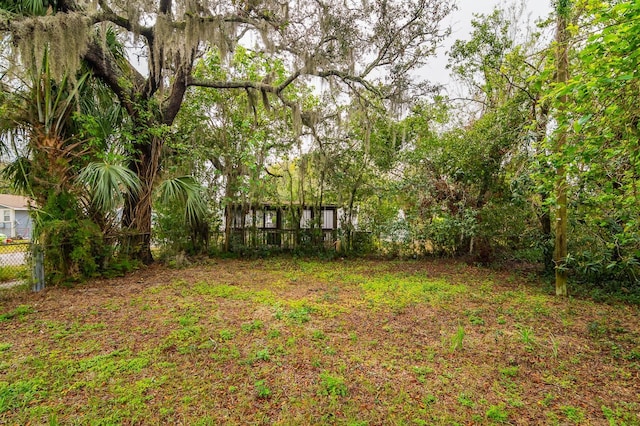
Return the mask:
M0 290L0 423L640 424L638 310L451 262Z

